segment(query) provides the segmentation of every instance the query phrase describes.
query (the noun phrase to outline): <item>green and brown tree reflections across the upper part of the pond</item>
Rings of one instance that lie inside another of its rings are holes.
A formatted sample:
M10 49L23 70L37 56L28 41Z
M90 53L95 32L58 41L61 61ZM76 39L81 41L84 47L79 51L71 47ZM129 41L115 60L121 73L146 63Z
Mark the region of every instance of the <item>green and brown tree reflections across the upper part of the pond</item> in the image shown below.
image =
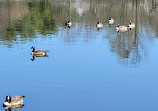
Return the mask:
M0 2L0 40L11 41L8 45L19 44L18 37L24 41L35 38L37 34L45 37L56 35L64 42L86 42L97 39L96 22L104 24L105 39L110 43L111 52L119 56L120 63L139 64L147 55L147 40L158 36L158 2L157 0L58 0L58 1L6 1ZM119 9L119 10L118 10ZM108 26L108 19L115 19L113 26ZM64 23L71 20L74 24L69 30ZM117 34L117 24L132 21L136 28ZM63 28L61 32L59 29ZM72 30L74 28L74 30ZM14 41L14 42L13 42ZM32 59L33 60L33 59Z

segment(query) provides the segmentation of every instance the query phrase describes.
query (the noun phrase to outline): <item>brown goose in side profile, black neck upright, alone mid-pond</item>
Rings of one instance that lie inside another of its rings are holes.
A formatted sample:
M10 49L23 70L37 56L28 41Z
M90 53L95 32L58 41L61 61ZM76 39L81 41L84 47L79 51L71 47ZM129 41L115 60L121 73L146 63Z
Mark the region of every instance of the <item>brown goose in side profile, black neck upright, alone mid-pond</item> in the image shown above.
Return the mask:
M34 46L32 46L31 47L31 49L33 49L32 50L32 52L31 52L31 55L32 56L39 56L39 57L44 57L44 56L46 56L46 53L48 52L48 51L46 51L46 50L37 50L37 51L35 51L35 47Z

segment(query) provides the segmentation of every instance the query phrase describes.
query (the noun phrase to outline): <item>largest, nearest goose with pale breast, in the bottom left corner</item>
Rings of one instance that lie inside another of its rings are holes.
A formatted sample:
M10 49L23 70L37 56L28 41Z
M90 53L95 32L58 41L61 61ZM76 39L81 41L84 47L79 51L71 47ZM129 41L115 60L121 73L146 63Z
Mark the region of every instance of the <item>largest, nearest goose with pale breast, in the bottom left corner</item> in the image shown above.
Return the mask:
M24 98L25 98L25 96L15 96L15 97L6 96L6 100L3 103L3 107L23 105Z

